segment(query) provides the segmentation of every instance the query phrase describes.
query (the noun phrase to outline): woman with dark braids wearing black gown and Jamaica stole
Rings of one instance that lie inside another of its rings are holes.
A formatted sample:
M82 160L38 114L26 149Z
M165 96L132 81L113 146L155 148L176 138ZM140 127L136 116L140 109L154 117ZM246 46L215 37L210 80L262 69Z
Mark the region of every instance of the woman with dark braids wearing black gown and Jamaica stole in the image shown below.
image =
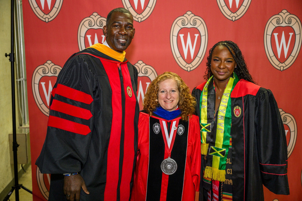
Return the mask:
M199 200L264 200L263 185L288 195L278 105L253 81L236 43L220 41L210 49L204 78L192 91L201 126Z

